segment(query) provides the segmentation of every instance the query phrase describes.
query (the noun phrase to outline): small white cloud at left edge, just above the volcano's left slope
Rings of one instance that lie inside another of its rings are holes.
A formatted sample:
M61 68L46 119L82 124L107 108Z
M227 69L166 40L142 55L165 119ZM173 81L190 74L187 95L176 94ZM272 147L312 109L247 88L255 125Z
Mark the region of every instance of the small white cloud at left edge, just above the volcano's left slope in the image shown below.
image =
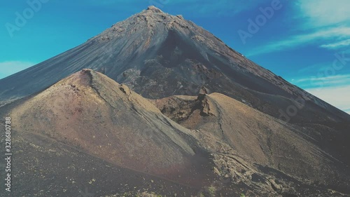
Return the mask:
M35 63L33 62L21 61L0 62L0 79L3 79L11 74L15 74L16 72L20 72L23 69L27 69L34 64Z

